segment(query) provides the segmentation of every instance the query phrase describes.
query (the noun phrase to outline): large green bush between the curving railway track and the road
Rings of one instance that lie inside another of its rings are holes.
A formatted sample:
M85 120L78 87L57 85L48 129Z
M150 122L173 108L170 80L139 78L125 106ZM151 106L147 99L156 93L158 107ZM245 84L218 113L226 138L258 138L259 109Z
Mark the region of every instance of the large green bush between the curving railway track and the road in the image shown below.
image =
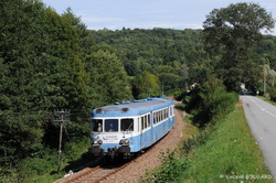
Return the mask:
M237 103L237 94L227 93L222 79L210 77L192 92L188 111L194 115L193 122L200 127L232 111Z

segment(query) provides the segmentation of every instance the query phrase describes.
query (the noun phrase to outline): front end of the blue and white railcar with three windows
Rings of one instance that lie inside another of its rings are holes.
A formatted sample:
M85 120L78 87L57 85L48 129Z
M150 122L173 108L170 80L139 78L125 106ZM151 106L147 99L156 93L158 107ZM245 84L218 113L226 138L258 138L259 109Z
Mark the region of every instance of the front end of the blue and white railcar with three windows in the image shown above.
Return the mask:
M94 155L131 157L137 150L137 118L107 117L92 119L92 147Z

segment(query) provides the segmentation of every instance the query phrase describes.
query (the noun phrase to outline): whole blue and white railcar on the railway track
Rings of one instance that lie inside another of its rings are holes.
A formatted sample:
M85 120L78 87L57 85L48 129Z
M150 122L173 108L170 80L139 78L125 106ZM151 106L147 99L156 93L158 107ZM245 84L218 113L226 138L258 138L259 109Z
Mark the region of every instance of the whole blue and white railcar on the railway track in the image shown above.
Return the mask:
M168 98L148 98L104 106L92 111L94 155L130 157L152 146L174 126L174 105Z

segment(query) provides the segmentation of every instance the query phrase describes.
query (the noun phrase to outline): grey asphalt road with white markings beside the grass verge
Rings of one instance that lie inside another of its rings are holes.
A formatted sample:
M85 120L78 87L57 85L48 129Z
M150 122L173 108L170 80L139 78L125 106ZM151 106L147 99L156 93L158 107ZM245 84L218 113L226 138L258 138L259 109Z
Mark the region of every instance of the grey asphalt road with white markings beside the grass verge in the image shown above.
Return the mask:
M276 107L253 96L241 96L252 133L276 182Z

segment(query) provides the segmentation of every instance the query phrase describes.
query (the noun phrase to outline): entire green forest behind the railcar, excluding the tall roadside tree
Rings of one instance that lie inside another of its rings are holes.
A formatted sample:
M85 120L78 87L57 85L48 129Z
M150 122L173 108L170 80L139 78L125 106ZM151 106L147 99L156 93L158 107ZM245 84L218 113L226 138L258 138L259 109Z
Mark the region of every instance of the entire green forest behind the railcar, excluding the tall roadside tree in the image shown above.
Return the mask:
M33 182L56 171L54 110L71 110L65 163L87 151L93 108L162 93L179 96L222 73L225 58L223 45L209 51L203 30L92 31L71 9L57 14L39 0L1 0L0 14L0 182ZM273 89L276 37L265 35L253 45L254 69L237 82L264 92L265 76L266 89Z

